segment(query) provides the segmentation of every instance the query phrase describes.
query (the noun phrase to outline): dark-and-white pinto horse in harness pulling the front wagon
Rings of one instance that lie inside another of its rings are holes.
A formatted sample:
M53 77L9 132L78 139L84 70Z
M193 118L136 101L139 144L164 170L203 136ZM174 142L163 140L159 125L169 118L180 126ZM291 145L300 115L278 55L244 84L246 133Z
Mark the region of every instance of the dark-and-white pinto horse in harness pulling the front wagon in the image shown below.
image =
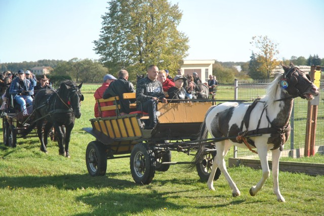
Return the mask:
M273 193L277 200L285 202L278 185L279 158L282 147L290 135L289 120L295 97L312 100L318 95L318 88L309 80L309 76L295 67L281 65L284 74L278 76L268 87L267 94L254 103L225 102L210 107L201 125L200 140L207 138L208 132L215 138L217 154L207 185L215 190L213 181L217 168L225 176L234 197L240 195L234 181L229 176L224 157L232 145L257 149L262 167L260 181L250 189L255 196L270 176L267 151L272 151ZM245 114L249 115L245 115ZM250 118L253 117L253 118ZM262 135L258 135L262 134ZM217 138L225 137L217 142ZM195 155L195 164L201 163L204 145Z

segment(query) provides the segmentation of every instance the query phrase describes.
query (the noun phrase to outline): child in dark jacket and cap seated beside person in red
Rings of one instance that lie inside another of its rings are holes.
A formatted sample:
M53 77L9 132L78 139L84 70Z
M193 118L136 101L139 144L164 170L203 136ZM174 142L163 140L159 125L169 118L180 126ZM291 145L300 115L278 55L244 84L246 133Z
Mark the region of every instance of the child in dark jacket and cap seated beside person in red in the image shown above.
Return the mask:
M182 75L177 75L174 77L175 86L169 88L168 94L171 103L179 103L185 101L174 101L173 99L186 99L186 90L182 87L183 83L187 80Z

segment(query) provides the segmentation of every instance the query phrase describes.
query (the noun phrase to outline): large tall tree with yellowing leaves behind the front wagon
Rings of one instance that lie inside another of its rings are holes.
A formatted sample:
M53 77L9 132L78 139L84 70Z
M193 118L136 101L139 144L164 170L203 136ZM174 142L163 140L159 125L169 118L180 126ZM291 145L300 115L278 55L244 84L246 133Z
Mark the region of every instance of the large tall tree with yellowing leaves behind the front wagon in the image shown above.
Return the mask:
M102 16L94 50L110 71L127 69L132 77L156 64L176 71L187 56L188 37L177 30L178 4L166 0L112 0ZM133 73L132 73L133 72Z

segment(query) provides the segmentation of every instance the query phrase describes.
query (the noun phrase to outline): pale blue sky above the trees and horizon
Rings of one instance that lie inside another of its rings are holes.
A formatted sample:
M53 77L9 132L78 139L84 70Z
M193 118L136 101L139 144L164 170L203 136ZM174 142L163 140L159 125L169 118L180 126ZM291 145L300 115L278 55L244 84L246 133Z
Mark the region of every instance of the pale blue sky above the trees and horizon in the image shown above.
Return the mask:
M322 0L170 0L183 17L178 30L189 37L187 60L246 62L252 36L278 43L278 59L324 58ZM106 0L0 0L0 61L98 59ZM161 12L163 13L163 12Z

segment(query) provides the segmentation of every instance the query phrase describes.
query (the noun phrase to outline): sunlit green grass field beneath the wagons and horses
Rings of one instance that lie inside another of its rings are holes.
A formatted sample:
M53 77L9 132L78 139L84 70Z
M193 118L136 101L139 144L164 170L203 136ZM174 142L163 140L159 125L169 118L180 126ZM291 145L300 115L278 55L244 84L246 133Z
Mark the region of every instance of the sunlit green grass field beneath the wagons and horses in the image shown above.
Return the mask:
M59 156L55 142L49 143L49 154L39 151L36 138L18 139L16 148L0 145L0 215L324 214L324 176L280 172L280 191L286 203L276 201L271 177L256 196L250 196L250 187L261 178L261 170L248 167L228 169L241 191L239 197L232 197L224 176L215 182L216 191L210 191L196 172L184 171L184 165L156 172L152 183L144 186L134 183L129 158L108 160L107 174L91 177L85 154L94 137L82 128L91 127L97 87L83 86L85 101L82 117L72 131L71 158ZM230 91L224 88L224 99L228 98L226 94L232 95ZM220 97L221 92L222 88L218 91ZM172 153L173 161L192 158Z

